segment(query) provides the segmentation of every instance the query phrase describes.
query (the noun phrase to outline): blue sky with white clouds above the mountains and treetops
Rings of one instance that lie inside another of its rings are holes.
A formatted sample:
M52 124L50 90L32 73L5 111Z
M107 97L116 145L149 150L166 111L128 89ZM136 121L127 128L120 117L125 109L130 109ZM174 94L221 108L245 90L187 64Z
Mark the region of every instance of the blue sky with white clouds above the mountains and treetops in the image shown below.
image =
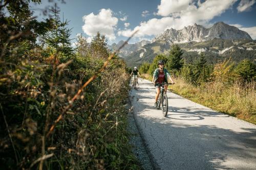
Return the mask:
M40 5L31 3L38 20L47 18L41 10L57 3L64 19L72 28L71 38L78 34L88 40L97 32L108 38L108 43L126 40L152 40L166 29L183 29L202 25L209 28L218 21L246 31L256 39L256 0L42 0Z

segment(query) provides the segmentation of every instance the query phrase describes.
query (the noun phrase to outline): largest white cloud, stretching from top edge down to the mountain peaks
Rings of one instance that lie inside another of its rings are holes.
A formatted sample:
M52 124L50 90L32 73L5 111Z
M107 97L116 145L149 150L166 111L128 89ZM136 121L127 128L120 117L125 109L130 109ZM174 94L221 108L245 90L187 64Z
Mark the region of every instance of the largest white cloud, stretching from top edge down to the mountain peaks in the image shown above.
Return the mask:
M185 26L198 23L203 26L209 26L209 21L215 16L221 15L225 10L232 7L237 0L208 0L203 3L200 1L191 2L190 0L161 0L158 6L158 15L164 17L152 18L141 22L133 30L118 31L118 35L130 36L135 30L139 32L136 37L158 35L164 30L174 28L183 29Z

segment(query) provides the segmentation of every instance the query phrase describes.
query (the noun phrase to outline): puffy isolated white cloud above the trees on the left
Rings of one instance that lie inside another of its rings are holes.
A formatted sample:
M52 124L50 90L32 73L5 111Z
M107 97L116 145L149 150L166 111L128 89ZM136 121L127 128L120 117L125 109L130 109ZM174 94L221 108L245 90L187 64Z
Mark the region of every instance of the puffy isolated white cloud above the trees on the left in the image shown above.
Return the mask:
M84 21L82 26L83 32L89 36L100 32L110 40L114 40L116 38L114 30L116 29L118 19L112 13L110 9L101 9L97 15L94 15L94 13L84 15L82 17Z

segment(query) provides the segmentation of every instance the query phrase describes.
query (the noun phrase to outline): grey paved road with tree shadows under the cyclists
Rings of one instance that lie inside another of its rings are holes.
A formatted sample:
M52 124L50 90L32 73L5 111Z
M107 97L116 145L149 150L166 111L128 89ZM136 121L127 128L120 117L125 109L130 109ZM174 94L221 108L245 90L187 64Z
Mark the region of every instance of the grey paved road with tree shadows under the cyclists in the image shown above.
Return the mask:
M130 98L157 169L256 169L256 126L167 92L167 117L155 88L139 79Z

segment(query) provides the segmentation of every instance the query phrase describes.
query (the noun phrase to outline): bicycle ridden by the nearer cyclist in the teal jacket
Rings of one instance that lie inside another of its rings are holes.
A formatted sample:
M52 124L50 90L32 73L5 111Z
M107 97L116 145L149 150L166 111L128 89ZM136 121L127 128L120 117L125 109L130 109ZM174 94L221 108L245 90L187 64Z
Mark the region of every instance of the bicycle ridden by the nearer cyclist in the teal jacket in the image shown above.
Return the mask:
M160 106L162 105L162 113L164 117L167 116L168 113L168 98L166 92L164 92L164 85L171 85L173 83L161 83L160 85L160 95L157 100L157 109L160 109Z

